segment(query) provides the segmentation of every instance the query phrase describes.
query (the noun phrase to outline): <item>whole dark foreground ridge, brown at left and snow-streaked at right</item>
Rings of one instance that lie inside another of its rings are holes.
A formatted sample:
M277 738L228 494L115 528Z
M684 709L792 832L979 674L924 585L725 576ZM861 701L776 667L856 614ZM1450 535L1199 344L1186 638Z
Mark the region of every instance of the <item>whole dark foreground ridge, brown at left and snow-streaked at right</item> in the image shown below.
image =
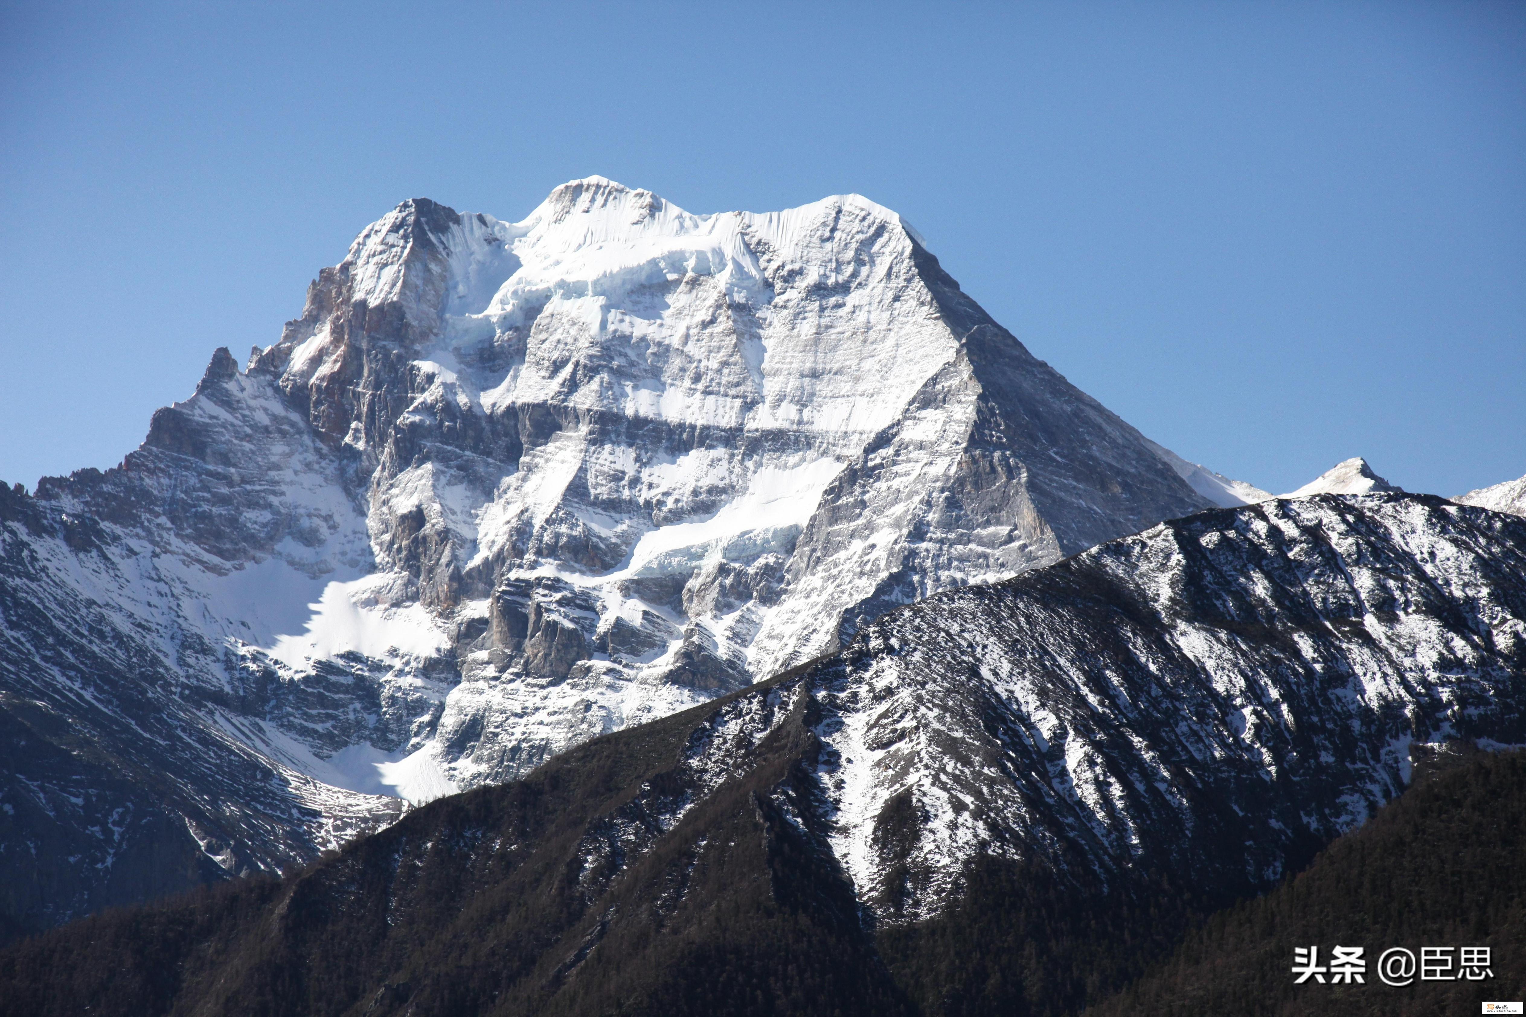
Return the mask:
M305 874L14 947L0 997L1074 1012L1372 816L1412 758L1526 743L1523 566L1526 520L1433 497L1175 520L896 610Z

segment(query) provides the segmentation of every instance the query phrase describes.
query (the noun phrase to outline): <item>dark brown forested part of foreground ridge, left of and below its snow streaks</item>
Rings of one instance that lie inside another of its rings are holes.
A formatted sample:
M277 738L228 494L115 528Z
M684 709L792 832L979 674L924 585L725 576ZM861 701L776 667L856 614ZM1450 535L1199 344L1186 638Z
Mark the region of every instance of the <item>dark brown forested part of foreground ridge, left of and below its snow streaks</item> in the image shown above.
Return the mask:
M1064 1014L1202 904L983 857L948 913L876 930L812 819L821 718L800 677L443 799L285 880L12 945L0 1014Z

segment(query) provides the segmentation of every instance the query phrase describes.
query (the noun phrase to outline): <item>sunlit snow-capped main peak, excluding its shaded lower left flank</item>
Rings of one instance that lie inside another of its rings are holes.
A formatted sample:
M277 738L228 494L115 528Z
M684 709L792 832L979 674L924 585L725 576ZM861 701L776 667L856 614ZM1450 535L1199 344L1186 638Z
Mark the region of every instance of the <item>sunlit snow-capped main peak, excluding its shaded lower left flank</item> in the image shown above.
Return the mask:
M1204 505L856 197L412 203L261 372L354 453L378 570L481 633L438 729L458 787Z

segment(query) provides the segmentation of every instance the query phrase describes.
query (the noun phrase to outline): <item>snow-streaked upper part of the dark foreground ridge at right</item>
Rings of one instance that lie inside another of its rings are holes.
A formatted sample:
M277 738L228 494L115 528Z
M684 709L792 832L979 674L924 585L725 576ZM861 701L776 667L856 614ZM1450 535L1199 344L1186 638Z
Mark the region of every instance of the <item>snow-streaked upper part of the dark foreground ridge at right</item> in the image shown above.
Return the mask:
M896 611L810 680L833 849L887 916L977 854L1267 886L1413 743L1526 743L1526 526L1402 494L1202 512Z

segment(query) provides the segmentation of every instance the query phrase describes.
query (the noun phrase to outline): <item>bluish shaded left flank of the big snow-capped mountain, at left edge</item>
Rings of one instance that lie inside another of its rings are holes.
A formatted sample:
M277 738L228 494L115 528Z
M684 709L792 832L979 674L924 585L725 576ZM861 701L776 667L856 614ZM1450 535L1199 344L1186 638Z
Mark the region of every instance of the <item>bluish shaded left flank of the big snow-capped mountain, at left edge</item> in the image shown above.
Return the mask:
M339 733L375 692L337 668L305 688L212 671L221 648L171 596L194 567L0 485L0 935L278 871L401 814L252 747L252 712Z

